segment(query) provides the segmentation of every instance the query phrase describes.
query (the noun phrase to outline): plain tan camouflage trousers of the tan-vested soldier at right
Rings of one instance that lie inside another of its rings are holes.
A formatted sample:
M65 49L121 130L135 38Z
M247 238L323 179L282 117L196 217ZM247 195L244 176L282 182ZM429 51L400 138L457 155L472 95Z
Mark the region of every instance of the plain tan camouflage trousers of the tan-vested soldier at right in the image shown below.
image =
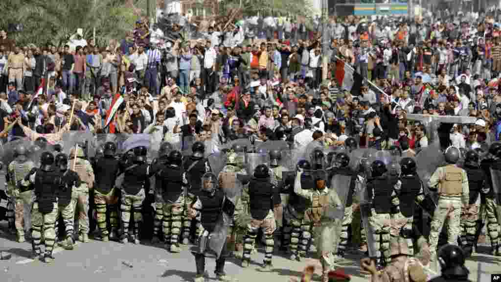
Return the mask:
M439 197L437 207L435 208L433 219L431 221L429 238L432 260L434 260L436 256L438 237L440 236L440 232L445 220L448 221L447 241L449 244L457 245L457 238L461 234L461 207L461 199L458 197Z

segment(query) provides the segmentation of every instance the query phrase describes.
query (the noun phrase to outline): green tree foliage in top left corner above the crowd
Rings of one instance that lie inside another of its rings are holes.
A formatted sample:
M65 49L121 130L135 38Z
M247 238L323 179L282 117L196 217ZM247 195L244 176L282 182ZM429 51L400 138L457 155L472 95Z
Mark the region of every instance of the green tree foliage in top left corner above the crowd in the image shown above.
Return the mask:
M22 32L10 32L18 44L64 44L78 28L84 38L103 46L110 39L123 38L134 26L137 17L124 0L9 0L0 1L0 27L22 24Z

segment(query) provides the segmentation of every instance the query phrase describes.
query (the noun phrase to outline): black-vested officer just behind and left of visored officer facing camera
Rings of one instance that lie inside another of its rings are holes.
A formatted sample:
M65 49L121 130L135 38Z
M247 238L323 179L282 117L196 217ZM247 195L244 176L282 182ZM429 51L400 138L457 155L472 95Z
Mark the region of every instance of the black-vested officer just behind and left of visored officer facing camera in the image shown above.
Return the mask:
M189 193L186 199L187 206L193 203L195 196L200 192L202 176L210 172L209 162L203 157L205 145L201 142L195 142L191 146L191 152L192 155L183 164L189 182ZM188 210L185 209L183 213L183 244L189 244L192 223L195 223L194 233L200 228L199 220L191 218L187 212Z

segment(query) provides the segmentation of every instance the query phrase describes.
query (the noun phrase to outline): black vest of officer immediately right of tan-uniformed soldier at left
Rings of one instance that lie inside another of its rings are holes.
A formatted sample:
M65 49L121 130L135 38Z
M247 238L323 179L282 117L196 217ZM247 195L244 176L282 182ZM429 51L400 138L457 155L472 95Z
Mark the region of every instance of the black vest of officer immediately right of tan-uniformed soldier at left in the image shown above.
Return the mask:
M120 161L115 158L101 157L96 162L96 190L108 194L115 186L115 180L120 170Z

